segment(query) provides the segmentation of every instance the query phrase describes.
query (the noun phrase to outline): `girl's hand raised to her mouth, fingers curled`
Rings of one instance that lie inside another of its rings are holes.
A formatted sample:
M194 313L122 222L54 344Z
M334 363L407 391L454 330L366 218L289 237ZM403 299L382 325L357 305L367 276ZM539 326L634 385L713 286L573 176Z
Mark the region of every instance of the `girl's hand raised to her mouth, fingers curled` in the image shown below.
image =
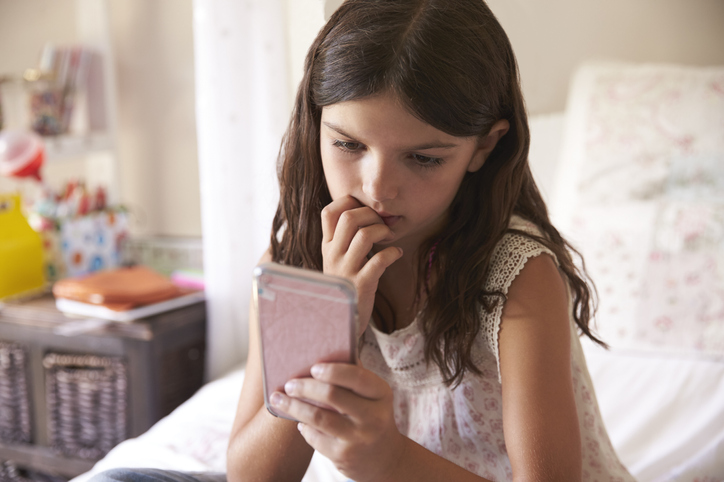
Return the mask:
M372 316L380 276L402 257L401 248L390 246L368 258L373 245L391 234L372 208L352 196L332 201L322 210L324 272L347 278L357 288L358 337Z

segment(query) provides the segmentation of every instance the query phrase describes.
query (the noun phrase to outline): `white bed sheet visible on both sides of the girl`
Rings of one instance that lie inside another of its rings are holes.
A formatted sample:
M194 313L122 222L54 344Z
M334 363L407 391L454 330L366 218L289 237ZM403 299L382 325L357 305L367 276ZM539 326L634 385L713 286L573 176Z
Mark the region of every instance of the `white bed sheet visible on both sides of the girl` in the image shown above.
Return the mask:
M604 423L640 481L724 481L724 362L604 351L584 343ZM115 467L224 471L243 370L204 386L92 473ZM305 482L346 480L315 455Z

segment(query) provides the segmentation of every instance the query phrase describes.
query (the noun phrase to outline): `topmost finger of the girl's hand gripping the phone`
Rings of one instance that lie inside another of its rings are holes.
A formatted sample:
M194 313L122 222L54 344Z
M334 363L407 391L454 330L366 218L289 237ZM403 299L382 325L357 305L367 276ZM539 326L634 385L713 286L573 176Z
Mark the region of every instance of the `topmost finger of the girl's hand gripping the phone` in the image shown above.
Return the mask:
M312 377L330 385L346 388L368 400L380 400L391 393L387 382L359 365L318 363L312 367ZM340 396L336 403L339 404L342 400L344 399ZM346 410L345 407L340 408Z

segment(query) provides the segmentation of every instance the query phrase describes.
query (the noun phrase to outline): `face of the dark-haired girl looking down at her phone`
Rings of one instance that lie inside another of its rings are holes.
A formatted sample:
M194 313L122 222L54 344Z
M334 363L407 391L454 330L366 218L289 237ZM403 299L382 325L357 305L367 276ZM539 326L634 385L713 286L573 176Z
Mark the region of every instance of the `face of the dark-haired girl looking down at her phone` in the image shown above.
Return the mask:
M324 107L320 142L332 199L349 195L372 208L393 232L380 244L406 253L441 228L465 173L492 150L426 124L391 94Z

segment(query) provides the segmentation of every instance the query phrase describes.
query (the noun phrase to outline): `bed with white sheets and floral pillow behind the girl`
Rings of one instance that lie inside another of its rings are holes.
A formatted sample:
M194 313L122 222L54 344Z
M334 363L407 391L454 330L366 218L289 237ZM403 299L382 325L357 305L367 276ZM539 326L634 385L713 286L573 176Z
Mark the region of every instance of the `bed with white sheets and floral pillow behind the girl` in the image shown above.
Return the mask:
M724 68L586 64L565 113L531 118L531 165L586 257L583 342L622 462L641 481L724 481ZM223 471L243 367L99 461ZM315 454L306 482L346 480Z

